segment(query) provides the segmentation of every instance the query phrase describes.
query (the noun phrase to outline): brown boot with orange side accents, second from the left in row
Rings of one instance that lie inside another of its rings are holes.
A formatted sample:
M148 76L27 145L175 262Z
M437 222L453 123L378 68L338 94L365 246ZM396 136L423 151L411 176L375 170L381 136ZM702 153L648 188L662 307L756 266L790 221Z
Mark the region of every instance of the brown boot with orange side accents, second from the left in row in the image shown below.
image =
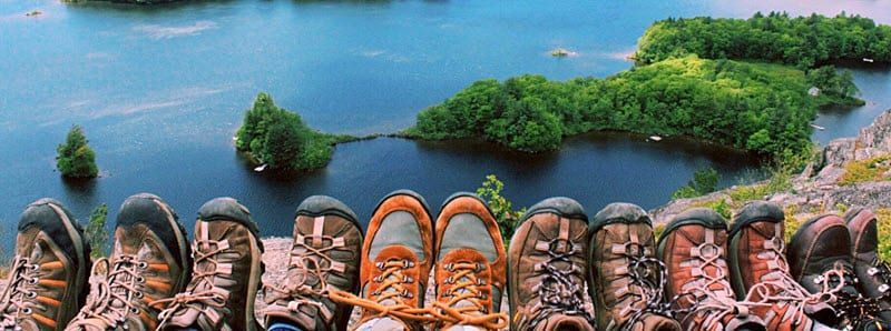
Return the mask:
M176 213L160 198L127 198L115 227L111 257L94 264L102 273L66 330L155 330L163 309L156 301L185 288L192 259Z

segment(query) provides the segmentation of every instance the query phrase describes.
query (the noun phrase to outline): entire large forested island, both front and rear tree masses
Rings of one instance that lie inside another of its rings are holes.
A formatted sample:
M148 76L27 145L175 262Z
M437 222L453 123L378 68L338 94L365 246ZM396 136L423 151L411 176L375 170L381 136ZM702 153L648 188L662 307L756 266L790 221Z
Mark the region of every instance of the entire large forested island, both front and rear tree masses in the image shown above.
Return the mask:
M647 29L627 71L606 79L480 80L421 111L404 134L482 138L540 152L559 148L566 136L617 130L795 154L811 144L819 107L864 103L849 71L815 64L863 57L889 62L889 42L891 27L844 13L668 19Z

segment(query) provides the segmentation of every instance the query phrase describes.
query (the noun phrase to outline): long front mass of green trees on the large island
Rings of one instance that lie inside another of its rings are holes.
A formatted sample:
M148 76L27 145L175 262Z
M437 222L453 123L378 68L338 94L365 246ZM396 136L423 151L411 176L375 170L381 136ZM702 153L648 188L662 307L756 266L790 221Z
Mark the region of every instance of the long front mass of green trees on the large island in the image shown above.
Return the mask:
M477 81L418 114L405 134L482 138L538 152L591 130L688 136L765 154L810 143L817 101L801 70L695 56L607 79Z

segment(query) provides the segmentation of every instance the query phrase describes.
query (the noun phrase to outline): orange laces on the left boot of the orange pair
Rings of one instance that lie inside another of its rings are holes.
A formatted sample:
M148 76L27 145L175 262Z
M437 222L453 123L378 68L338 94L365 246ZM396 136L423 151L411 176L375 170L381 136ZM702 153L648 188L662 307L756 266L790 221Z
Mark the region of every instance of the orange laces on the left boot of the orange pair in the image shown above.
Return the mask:
M405 299L414 298L408 287L417 287L418 280L403 274L403 270L414 268L414 262L405 259L389 259L375 263L374 267L380 273L372 279L373 282L379 283L378 289L370 293L373 300L359 298L337 289L331 289L329 295L334 302L374 311L376 318L392 315L408 322L437 322L438 320L430 314L429 309L411 307L405 303Z

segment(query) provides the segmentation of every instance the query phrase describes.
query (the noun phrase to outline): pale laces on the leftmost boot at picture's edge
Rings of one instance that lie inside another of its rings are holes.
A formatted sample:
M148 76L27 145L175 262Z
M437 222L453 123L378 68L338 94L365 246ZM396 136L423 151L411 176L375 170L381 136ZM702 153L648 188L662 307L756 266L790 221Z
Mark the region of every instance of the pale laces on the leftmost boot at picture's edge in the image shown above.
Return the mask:
M30 314L31 305L37 299L37 284L40 281L40 265L31 263L29 258L17 258L12 267L12 278L7 287L8 298L0 305L0 327L12 328L18 325L16 317L19 313Z

